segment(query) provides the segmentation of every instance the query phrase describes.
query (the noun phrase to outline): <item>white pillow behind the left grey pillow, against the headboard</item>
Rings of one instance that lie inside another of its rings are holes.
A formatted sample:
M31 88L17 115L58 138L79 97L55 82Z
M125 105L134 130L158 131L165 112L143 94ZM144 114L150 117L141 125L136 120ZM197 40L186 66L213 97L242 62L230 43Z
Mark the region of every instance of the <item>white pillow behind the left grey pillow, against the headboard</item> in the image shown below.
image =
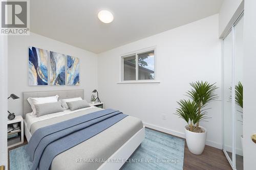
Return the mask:
M27 100L31 106L31 109L33 110L31 115L36 115L35 105L58 102L58 98L59 98L58 95L50 96L50 97L46 97L46 98L28 98Z

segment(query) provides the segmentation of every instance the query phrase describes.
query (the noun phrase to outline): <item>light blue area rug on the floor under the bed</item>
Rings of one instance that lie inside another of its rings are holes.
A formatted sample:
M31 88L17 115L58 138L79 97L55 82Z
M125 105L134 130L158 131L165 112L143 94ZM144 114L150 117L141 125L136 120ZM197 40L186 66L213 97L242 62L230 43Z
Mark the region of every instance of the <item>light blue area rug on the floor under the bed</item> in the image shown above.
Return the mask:
M10 170L29 169L26 145L9 151ZM123 170L183 169L184 140L145 128L145 139Z

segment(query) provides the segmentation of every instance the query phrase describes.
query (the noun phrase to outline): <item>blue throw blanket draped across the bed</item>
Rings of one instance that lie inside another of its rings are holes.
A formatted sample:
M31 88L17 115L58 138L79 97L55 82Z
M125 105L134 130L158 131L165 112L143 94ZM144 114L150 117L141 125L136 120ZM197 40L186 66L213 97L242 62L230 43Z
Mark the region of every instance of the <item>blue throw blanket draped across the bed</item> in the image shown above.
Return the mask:
M106 109L36 130L27 147L31 169L48 170L55 156L108 129L126 116L120 111Z

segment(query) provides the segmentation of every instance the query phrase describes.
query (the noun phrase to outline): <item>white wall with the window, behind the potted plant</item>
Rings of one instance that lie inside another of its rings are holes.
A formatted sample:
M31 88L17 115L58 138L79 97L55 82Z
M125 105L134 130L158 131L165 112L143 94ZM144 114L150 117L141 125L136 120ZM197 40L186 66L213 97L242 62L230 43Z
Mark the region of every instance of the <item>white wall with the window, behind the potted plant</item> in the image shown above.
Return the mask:
M139 117L147 126L184 137L185 121L174 115L189 82L217 82L221 99L221 40L218 14L99 54L98 87L106 108ZM120 55L157 46L159 84L117 84ZM221 101L209 105L207 144L222 148ZM166 114L166 120L162 119Z

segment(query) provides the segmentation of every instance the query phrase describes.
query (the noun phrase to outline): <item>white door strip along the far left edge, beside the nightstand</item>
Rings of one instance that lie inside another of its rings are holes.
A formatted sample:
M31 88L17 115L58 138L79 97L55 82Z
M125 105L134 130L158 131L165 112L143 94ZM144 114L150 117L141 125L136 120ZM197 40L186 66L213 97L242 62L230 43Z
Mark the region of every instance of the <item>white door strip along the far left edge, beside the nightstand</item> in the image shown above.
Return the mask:
M0 35L0 166L7 168L7 36Z

